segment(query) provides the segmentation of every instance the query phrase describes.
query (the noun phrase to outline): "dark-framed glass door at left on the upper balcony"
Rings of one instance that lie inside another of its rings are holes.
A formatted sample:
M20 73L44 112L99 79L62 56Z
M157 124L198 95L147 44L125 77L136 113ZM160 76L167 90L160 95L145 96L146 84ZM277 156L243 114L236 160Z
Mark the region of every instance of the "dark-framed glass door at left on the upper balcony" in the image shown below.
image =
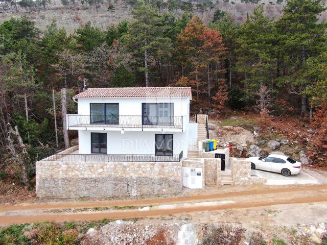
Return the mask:
M90 103L91 124L119 124L119 104Z

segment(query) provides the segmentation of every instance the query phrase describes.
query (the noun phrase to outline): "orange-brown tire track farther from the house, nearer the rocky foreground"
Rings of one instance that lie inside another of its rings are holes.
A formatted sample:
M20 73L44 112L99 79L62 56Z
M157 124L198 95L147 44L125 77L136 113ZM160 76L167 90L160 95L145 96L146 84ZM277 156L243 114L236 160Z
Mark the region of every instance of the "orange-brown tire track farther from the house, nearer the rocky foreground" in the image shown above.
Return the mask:
M144 218L151 216L165 216L170 214L202 212L202 211L216 211L223 209L242 209L253 207L264 207L272 205L285 204L300 204L300 203L315 203L327 202L327 195L315 195L313 197L290 198L286 200L273 201L251 201L238 202L232 204L214 205L214 206L197 206L197 207L179 207L171 209L156 209L147 211L114 211L114 212L100 212L100 213L74 213L74 214L42 214L42 215L13 215L0 216L0 224L22 224L34 222L64 222L77 220L99 220L103 218L108 219L122 219L122 218Z

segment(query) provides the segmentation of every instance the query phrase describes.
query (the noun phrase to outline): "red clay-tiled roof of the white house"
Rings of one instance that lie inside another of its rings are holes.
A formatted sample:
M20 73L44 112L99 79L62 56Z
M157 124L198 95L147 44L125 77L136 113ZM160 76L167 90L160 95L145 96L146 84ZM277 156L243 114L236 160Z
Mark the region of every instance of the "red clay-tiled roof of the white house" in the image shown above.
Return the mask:
M73 98L191 97L190 87L88 88Z

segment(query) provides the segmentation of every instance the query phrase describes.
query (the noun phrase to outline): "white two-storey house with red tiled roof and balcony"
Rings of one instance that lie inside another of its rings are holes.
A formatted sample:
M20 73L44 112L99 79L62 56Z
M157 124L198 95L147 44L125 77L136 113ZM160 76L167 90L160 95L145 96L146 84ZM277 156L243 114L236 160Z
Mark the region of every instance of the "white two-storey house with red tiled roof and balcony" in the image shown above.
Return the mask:
M190 87L88 88L73 100L78 114L67 115L67 129L78 130L79 154L173 161L197 139Z

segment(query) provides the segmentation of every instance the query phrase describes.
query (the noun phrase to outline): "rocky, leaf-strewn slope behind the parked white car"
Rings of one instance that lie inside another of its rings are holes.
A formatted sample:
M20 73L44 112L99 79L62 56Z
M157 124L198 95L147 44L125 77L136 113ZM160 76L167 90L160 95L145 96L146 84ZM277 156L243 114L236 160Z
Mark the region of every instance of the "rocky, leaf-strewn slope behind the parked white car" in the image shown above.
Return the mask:
M209 134L210 138L218 139L220 146L232 145L232 156L235 157L275 153L288 155L308 165L306 145L314 137L314 131L300 124L294 120L271 118L267 126L262 126L251 116L238 114L209 119Z

